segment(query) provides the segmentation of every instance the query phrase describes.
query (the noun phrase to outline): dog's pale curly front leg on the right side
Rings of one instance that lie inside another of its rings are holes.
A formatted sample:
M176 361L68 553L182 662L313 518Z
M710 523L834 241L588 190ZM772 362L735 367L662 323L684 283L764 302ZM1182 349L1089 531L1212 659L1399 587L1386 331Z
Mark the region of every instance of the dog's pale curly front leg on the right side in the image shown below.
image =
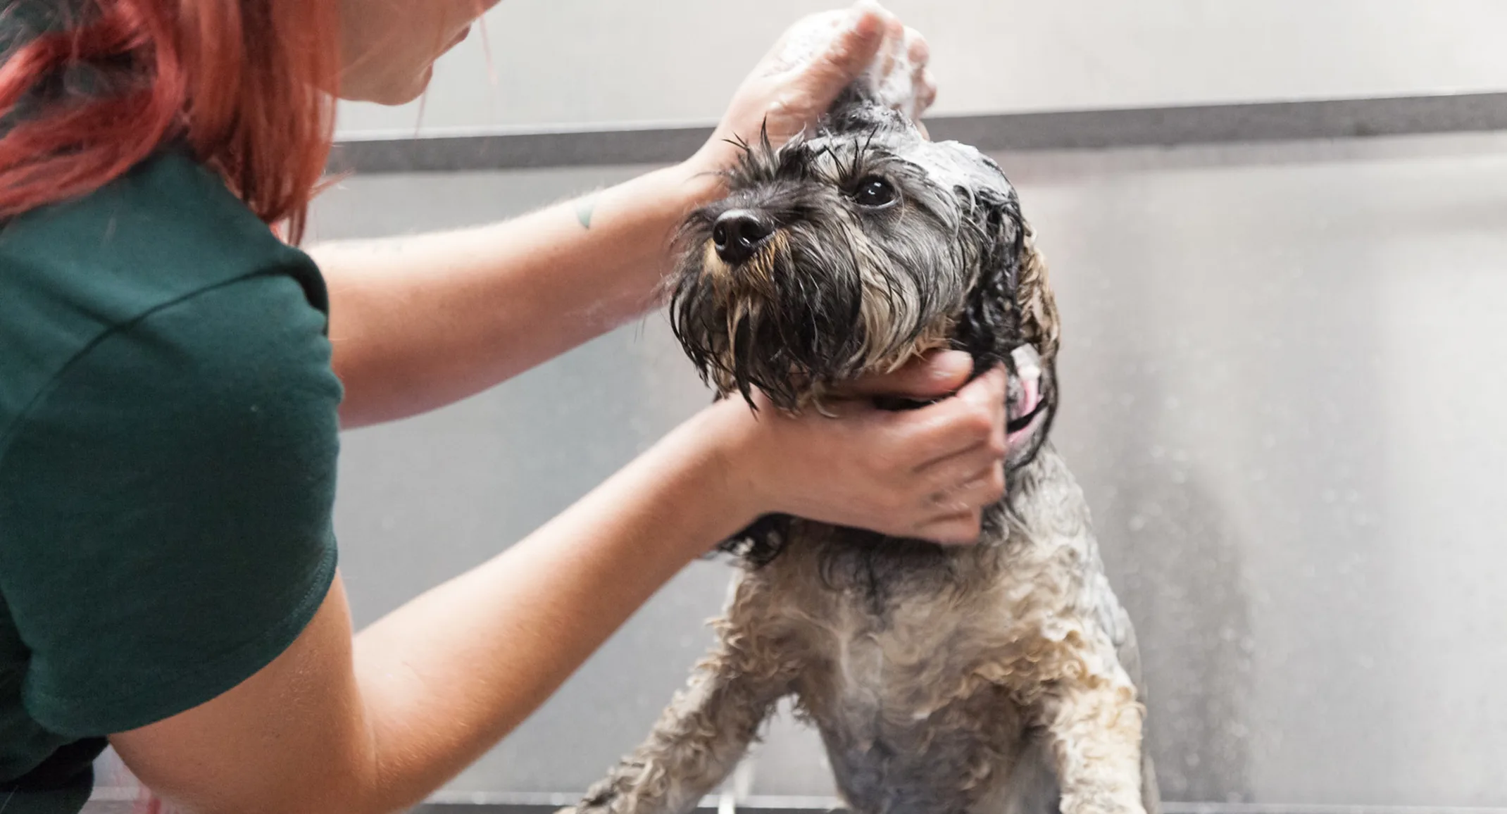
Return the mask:
M1145 814L1144 707L1120 665L1055 681L1038 699L1038 710L1052 745L1062 814Z

